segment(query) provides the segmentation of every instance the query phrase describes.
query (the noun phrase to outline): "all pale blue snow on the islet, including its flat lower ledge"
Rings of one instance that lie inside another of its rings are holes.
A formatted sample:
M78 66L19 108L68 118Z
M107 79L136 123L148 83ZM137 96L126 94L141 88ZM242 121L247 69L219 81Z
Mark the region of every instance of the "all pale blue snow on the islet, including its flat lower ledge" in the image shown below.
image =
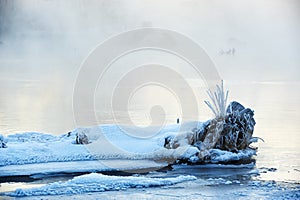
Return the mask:
M166 149L164 142L167 136L189 132L195 127L203 128L203 125L188 122L166 125L159 130L149 127L143 129L140 137L137 137L139 128L118 125L78 128L59 136L36 132L9 135L5 138L7 148L0 148L0 177L153 169L178 159L196 163L199 160L196 147L186 144L176 149ZM146 137L155 130L158 130L156 134ZM91 143L75 144L78 132L87 134ZM218 163L251 158L255 151L247 149L232 153L212 149L210 154L211 162Z

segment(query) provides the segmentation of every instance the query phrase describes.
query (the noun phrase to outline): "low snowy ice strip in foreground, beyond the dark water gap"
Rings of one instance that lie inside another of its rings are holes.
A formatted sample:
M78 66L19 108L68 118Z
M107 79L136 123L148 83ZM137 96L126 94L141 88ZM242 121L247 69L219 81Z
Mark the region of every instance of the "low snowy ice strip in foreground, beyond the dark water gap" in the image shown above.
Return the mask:
M128 188L168 186L182 182L193 181L196 179L197 178L195 176L182 175L173 178L147 178L135 176L107 176L97 173L91 173L75 177L67 182L60 181L31 189L16 189L14 192L5 193L5 195L22 197L82 194L87 192L126 190Z

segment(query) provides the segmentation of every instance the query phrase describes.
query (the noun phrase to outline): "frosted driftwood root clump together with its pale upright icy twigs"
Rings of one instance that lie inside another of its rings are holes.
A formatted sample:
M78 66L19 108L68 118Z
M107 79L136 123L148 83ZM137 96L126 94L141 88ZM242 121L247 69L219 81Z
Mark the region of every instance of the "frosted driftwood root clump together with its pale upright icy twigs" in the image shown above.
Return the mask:
M224 92L223 82L217 85L217 91L208 91L211 102L205 101L212 110L215 118L205 122L200 129L193 129L192 133L165 138L165 148L176 149L180 144L199 149L199 161L210 156L210 150L220 149L237 153L239 150L252 148L250 144L256 142L257 137L252 137L256 124L253 116L254 111L245 108L242 104L233 101L226 107L228 91ZM185 142L183 142L184 140ZM252 148L254 149L254 148Z

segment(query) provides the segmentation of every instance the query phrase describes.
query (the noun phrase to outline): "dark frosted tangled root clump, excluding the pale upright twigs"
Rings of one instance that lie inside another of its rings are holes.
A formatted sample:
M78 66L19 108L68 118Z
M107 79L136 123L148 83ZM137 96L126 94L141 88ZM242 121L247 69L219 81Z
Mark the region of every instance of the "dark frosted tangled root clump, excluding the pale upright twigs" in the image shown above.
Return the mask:
M203 149L221 149L237 152L249 147L254 141L252 138L255 120L254 112L244 108L238 102L231 102L226 110L225 117L211 120L204 129L194 129L197 138L191 145ZM205 148L204 148L205 146Z

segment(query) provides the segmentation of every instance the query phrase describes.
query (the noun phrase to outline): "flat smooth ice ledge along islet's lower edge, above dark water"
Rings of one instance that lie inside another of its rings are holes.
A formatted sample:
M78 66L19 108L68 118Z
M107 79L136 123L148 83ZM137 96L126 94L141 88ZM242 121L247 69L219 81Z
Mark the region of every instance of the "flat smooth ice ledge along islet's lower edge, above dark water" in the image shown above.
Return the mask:
M27 176L42 178L59 173L77 172L108 172L108 171L150 171L165 167L166 163L157 163L151 160L91 160L48 162L24 165L7 165L0 167L0 177Z

